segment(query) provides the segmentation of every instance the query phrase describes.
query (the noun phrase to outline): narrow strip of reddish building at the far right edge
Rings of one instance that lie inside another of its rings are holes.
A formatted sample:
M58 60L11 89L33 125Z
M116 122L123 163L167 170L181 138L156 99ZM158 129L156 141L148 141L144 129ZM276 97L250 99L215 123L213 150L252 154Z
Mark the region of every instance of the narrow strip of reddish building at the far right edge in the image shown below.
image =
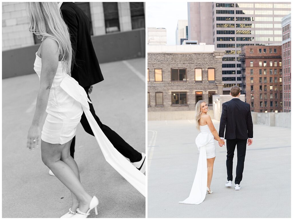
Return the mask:
M282 19L283 112L291 112L291 14Z

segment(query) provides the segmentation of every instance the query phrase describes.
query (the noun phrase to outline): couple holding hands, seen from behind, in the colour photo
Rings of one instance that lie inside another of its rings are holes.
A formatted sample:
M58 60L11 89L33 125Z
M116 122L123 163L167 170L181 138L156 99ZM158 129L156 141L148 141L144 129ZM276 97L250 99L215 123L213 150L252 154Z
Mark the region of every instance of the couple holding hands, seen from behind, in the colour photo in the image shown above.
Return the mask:
M214 140L219 146L227 144L227 187L232 187L233 181L233 157L237 145L237 167L235 178L235 190L239 190L244 168L246 152L246 141L248 146L252 144L253 124L250 112L250 105L239 99L240 88L237 85L231 87L230 95L233 98L222 104L222 115L220 120L219 134L215 129L211 117L207 115L207 103L200 100L195 106L195 123L200 133L195 139L200 156L198 158L197 170L189 197L179 203L200 204L204 201L206 194L211 194L211 182L213 175L216 147Z

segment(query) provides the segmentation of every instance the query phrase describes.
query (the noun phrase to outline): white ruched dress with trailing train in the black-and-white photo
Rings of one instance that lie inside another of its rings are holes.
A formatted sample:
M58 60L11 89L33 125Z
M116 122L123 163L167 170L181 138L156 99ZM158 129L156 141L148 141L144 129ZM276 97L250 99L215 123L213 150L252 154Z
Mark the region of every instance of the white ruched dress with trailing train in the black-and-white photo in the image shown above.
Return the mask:
M42 60L36 53L34 70L39 78L41 69ZM71 140L84 111L106 161L145 196L145 175L114 148L91 114L88 102L91 103L84 88L63 72L62 63L59 61L50 88L46 109L48 115L42 130L42 140L52 144L64 144Z

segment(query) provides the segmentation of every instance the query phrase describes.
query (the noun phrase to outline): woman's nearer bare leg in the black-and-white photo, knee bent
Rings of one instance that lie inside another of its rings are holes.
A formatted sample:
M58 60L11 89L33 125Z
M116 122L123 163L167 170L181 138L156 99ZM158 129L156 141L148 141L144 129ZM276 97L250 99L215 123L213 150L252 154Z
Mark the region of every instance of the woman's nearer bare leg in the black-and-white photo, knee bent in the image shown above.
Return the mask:
M68 145L68 146L67 146ZM82 187L79 178L65 162L61 160L64 147L70 147L70 142L64 145L41 142L42 161L52 170L55 176L77 197L79 209L86 212L91 201L91 196Z

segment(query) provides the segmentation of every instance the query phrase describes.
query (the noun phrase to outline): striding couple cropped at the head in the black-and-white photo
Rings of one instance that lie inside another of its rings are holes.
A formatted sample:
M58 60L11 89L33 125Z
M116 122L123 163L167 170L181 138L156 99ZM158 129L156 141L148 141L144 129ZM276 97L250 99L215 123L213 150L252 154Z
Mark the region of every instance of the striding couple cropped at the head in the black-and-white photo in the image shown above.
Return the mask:
M40 89L27 148L41 145L42 161L70 190L72 205L62 218L86 218L91 209L97 214L98 199L81 185L74 160L79 122L96 137L106 161L145 196L145 154L102 124L88 96L91 85L103 80L88 18L72 2L28 2L26 6L29 30L42 38L34 63Z

